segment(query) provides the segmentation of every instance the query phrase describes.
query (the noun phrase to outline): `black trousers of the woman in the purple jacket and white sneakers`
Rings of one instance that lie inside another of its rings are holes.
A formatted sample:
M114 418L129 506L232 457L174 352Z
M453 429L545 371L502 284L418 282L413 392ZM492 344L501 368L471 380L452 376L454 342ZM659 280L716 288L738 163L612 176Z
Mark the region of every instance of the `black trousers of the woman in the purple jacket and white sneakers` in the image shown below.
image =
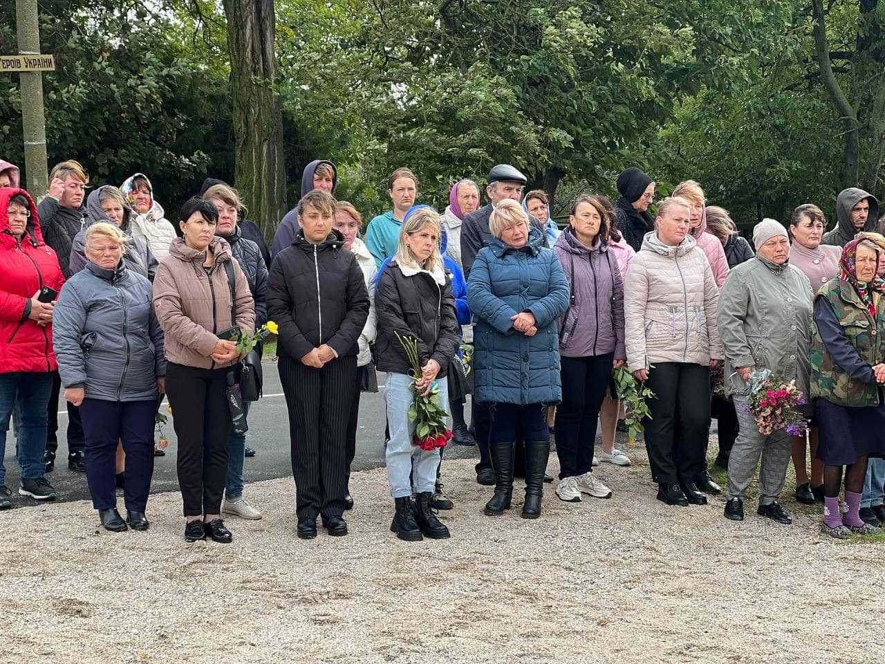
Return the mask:
M562 403L556 409L559 479L589 473L593 467L596 424L603 405L614 353L560 358Z

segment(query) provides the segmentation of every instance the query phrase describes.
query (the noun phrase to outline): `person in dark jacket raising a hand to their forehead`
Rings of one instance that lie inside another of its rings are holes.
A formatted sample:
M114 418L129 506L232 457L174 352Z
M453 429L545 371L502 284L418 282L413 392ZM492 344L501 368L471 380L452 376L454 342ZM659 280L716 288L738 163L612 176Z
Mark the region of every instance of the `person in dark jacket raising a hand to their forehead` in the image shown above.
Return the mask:
M80 233L87 219L86 211L83 208L83 199L86 196L86 185L88 184L89 175L86 174L80 162L73 159L63 161L50 171L49 193L37 206L43 240L55 250L58 256L58 265L61 266L65 279L68 279L72 274L73 238ZM55 467L55 457L58 451L58 391L60 389L61 380L58 378L57 371L52 377L52 390L50 391L47 412L46 455L44 458L47 473ZM77 406L67 402L67 414L67 466L77 473L85 473L85 436L80 421L80 410Z

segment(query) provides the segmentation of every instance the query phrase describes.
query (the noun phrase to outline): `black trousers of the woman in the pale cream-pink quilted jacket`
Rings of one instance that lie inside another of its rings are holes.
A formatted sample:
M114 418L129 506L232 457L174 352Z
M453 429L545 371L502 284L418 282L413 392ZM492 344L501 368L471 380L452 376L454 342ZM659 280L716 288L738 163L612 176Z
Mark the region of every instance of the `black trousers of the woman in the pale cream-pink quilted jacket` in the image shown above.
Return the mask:
M704 468L709 429L710 370L698 364L656 362L648 386L655 393L645 422L651 476L658 483L696 482Z

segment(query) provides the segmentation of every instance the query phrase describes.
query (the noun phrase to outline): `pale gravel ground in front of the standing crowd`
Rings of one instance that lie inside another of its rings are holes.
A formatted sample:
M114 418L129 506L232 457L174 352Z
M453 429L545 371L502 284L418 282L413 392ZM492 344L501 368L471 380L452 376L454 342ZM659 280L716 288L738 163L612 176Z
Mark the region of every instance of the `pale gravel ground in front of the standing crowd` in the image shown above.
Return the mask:
M825 539L792 500L790 527L735 524L604 466L612 499L547 485L523 521L521 484L491 518L472 471L446 464L440 542L389 532L383 469L351 480L350 536L312 542L285 479L250 485L266 518L228 521L229 545L185 544L177 493L148 533L98 529L85 502L0 514L0 662L881 661L881 544Z

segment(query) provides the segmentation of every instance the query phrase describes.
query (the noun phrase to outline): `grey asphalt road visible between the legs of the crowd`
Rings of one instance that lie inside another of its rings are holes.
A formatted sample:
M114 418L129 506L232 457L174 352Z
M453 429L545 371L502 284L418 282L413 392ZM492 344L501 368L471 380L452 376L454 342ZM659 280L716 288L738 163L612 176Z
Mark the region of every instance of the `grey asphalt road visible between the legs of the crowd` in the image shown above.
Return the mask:
M249 413L249 433L246 444L254 449L256 456L246 459L244 470L246 483L260 482L277 477L288 477L292 474L289 455L289 416L286 412L286 400L282 395L280 374L273 362L265 364L265 396L258 403L252 404ZM381 467L384 465L384 425L386 414L384 406L385 374L378 374L380 391L364 393L360 399L359 429L357 432L357 455L353 460L354 471ZM64 399L60 400L64 404ZM165 406L164 406L165 407ZM469 413L469 409L467 411ZM89 498L86 475L74 473L67 467L67 411L58 414L58 459L56 469L47 475L50 483L58 494L58 500L84 500ZM165 457L156 457L151 493L178 490L178 478L175 474L176 439L172 419L165 425L165 434L169 439ZM451 444L445 452L446 456L455 459L469 459L478 456L475 447L463 447ZM37 501L18 495L19 464L15 459L15 436L11 430L6 436L6 486L12 490L12 506L34 506ZM244 491L249 498L249 488ZM292 487L292 501L295 502L295 486Z

